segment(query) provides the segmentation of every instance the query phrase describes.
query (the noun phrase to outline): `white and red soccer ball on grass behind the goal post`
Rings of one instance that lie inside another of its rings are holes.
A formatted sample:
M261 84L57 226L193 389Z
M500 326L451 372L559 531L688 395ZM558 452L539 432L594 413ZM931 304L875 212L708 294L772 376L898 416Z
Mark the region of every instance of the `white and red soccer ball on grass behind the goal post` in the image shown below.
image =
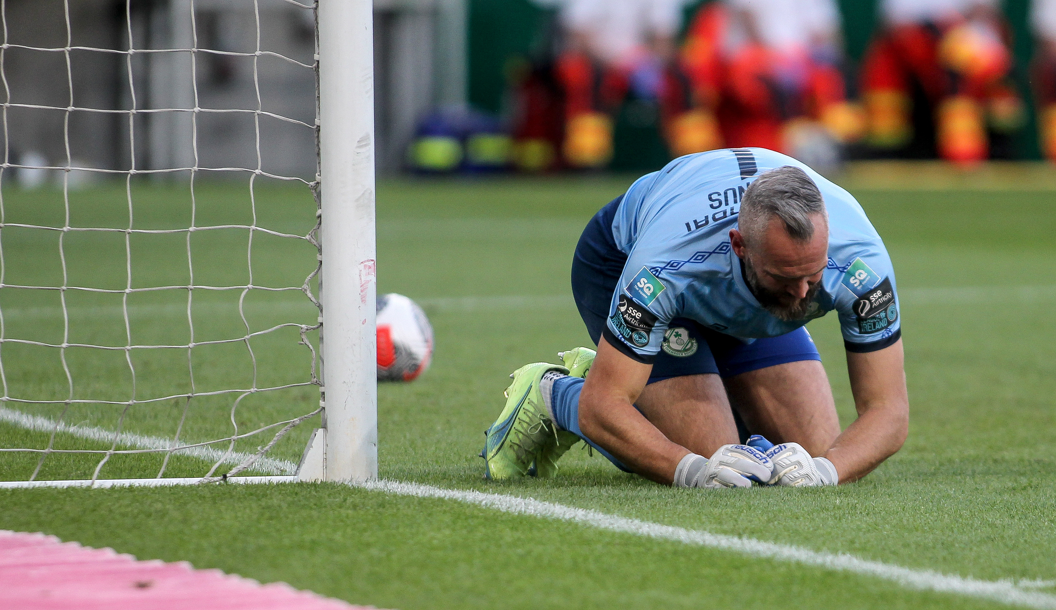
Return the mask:
M433 327L413 300L401 294L378 297L378 381L410 382L429 368Z

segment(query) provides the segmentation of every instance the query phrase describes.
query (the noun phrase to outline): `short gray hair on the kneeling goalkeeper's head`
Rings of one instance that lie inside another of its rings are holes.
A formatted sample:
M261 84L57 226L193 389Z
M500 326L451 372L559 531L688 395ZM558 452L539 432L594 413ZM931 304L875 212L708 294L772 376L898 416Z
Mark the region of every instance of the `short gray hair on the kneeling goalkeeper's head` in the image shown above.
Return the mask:
M812 216L822 215L828 222L822 191L807 172L786 165L763 172L748 186L740 200L737 228L744 241L756 243L770 219L785 223L785 230L796 241L814 237Z

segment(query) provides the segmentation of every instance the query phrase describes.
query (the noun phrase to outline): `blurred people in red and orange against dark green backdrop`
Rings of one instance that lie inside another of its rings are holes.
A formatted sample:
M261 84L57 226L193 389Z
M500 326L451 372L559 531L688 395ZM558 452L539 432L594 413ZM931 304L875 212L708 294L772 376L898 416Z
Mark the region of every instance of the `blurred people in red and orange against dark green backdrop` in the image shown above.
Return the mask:
M1054 0L489 0L468 23L470 105L425 116L415 169L1056 159Z

